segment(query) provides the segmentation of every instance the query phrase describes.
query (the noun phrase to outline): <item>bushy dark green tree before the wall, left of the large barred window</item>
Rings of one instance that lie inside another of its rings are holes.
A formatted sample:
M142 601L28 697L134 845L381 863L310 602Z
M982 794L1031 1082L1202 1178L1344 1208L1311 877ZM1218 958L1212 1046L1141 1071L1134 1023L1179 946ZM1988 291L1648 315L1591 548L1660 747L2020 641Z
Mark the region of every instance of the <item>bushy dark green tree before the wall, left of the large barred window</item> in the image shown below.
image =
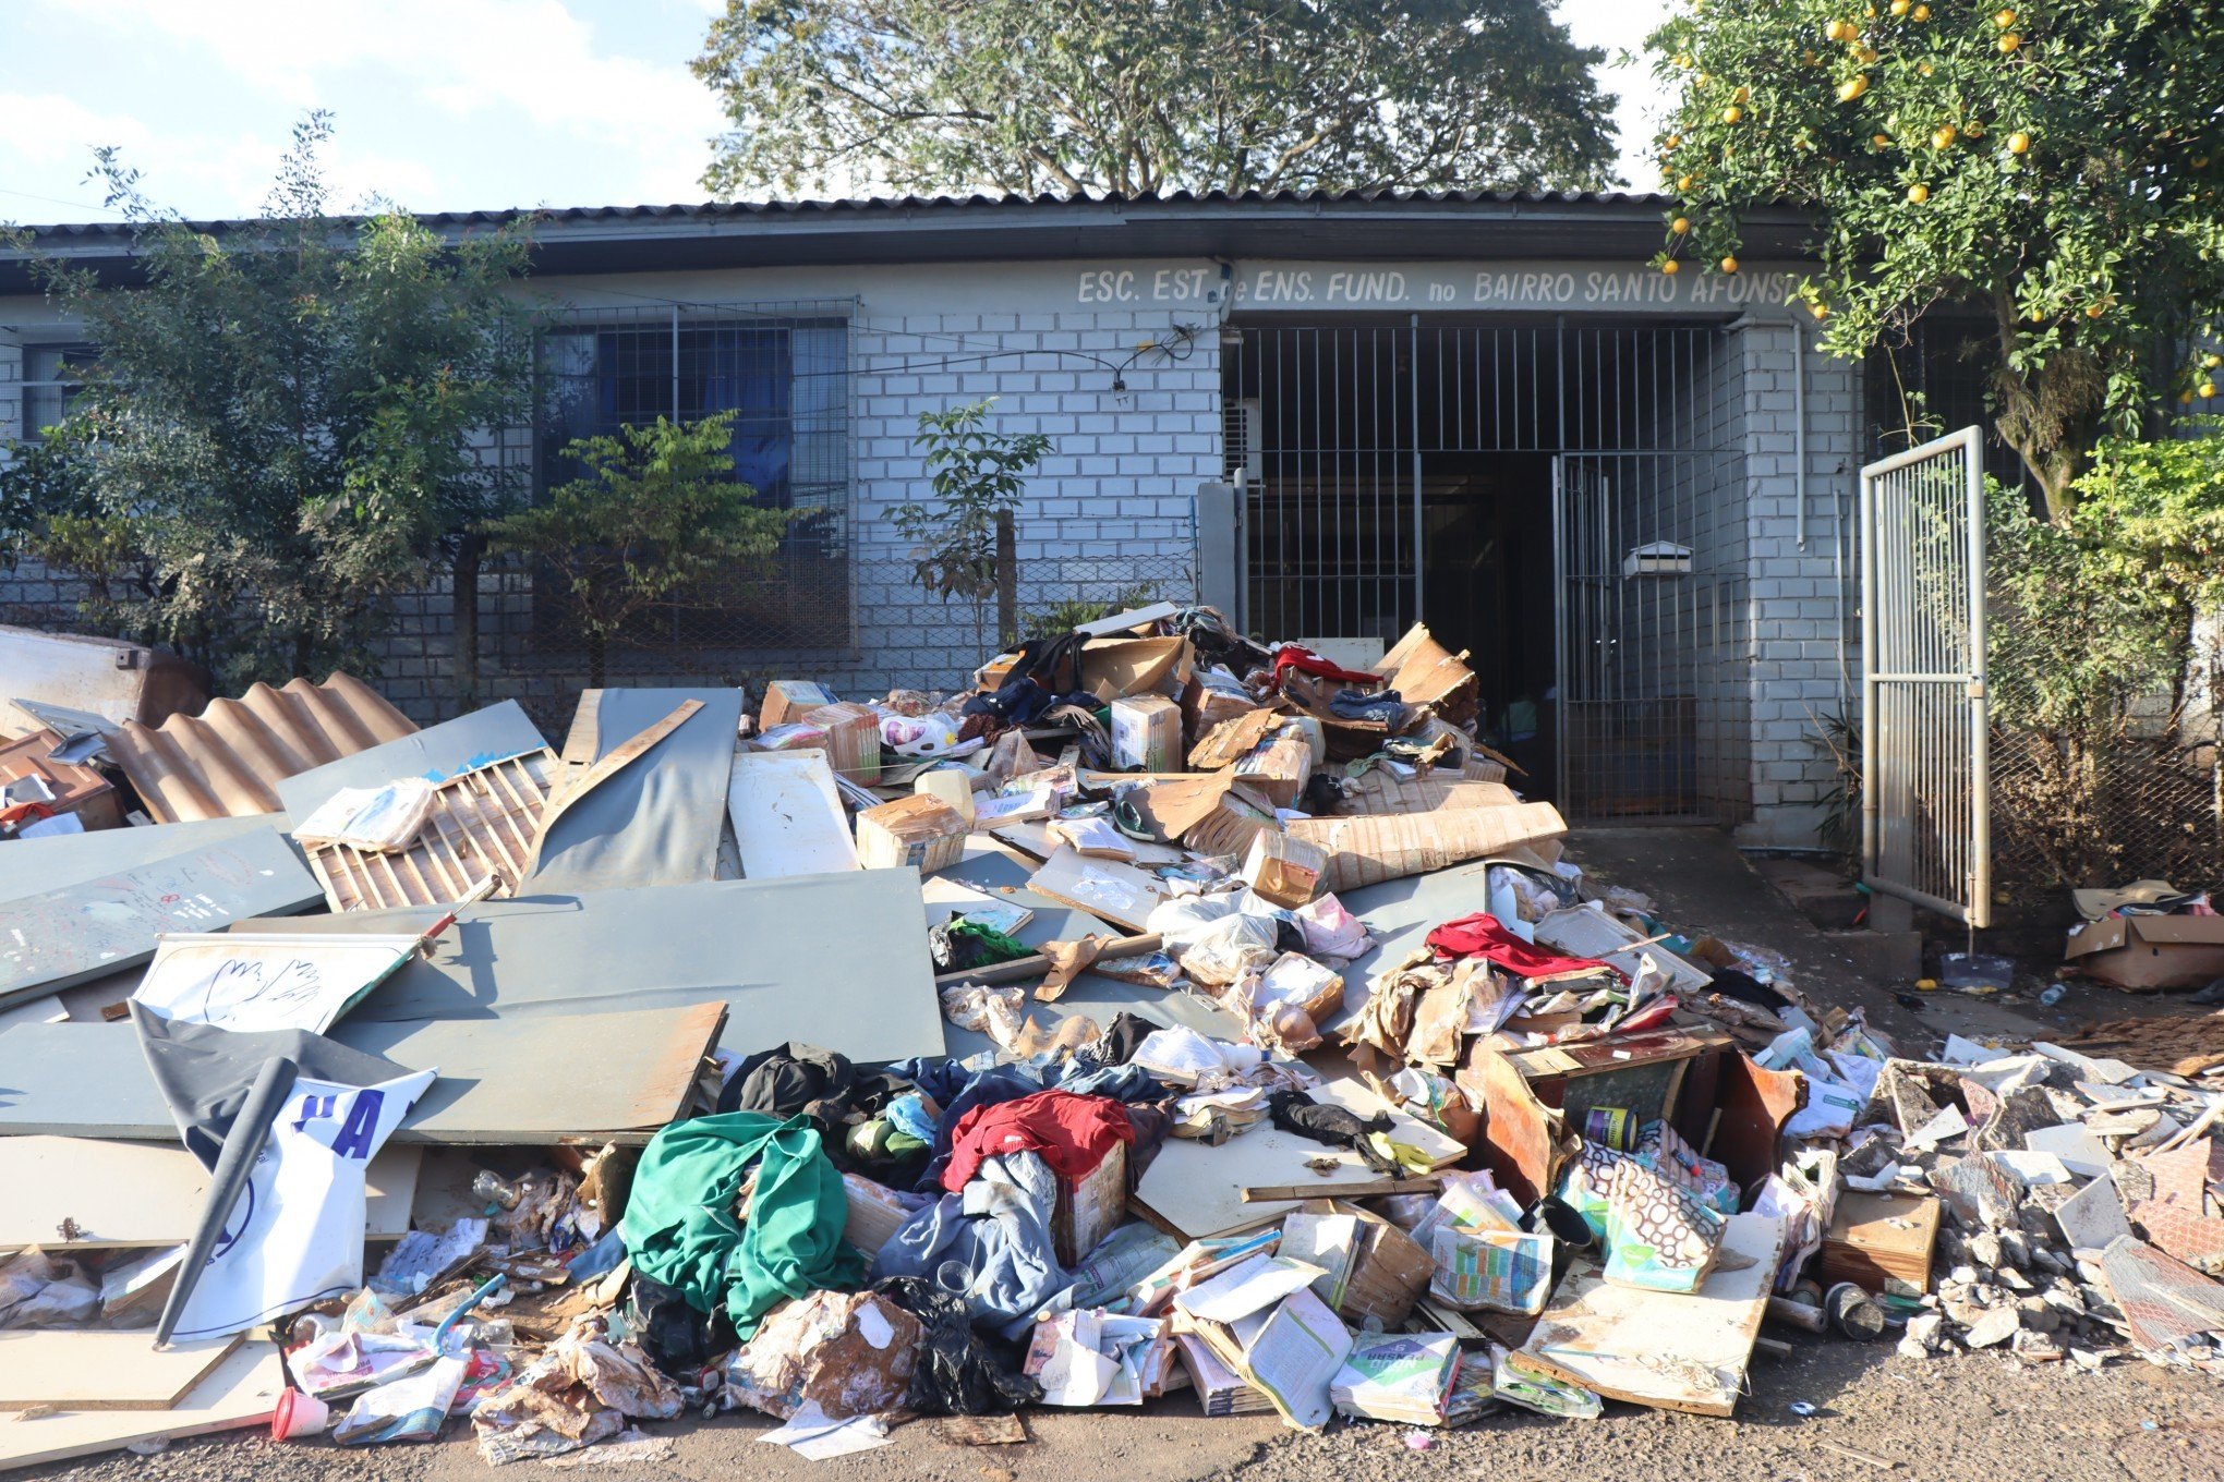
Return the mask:
M0 475L0 513L20 551L89 578L89 618L234 687L367 667L391 595L438 560L469 707L480 524L527 493L494 440L532 411L532 311L514 293L527 236L338 218L327 138L309 116L265 216L222 236L156 207L102 151L140 280L36 258L98 358L42 451Z

